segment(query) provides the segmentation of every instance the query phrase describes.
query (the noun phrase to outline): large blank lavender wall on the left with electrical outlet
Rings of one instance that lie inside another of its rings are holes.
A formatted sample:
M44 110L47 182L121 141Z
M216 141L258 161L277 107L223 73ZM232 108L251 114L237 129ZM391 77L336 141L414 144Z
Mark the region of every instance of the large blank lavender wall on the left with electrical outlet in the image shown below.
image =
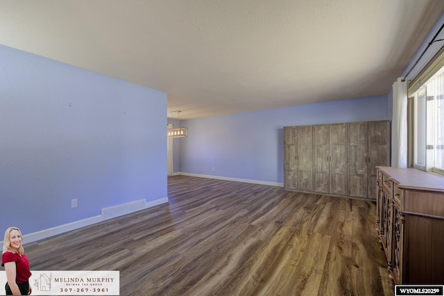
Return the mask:
M164 92L0 45L0 229L167 197L166 114Z

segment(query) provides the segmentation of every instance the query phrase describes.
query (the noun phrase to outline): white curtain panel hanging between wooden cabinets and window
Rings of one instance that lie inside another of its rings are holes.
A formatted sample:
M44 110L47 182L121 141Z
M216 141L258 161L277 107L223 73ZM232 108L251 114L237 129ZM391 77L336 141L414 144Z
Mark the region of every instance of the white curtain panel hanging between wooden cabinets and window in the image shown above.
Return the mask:
M407 167L407 81L393 83L391 166Z

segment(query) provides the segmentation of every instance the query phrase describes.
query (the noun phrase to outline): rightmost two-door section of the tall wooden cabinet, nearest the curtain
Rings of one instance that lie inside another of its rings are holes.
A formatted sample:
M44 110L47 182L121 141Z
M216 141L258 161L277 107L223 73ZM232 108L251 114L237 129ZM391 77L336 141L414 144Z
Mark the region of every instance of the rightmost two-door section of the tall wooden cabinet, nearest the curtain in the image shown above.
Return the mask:
M390 164L390 122L349 124L348 183L351 197L375 199L377 165Z

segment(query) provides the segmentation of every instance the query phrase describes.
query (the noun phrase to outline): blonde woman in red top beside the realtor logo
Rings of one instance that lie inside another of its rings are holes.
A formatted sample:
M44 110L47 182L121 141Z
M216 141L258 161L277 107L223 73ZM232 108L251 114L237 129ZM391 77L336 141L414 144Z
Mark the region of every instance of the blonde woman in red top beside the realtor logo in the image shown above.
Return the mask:
M1 256L1 266L5 267L6 295L29 295L29 261L22 247L22 233L17 227L9 227L5 232L3 240L3 255Z

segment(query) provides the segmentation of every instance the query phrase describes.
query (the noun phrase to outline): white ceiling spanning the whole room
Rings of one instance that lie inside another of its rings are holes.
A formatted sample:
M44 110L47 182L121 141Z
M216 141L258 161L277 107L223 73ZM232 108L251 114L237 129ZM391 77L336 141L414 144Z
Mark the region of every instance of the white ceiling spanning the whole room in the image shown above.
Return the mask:
M442 0L0 0L0 44L162 90L191 119L388 94L443 12Z

